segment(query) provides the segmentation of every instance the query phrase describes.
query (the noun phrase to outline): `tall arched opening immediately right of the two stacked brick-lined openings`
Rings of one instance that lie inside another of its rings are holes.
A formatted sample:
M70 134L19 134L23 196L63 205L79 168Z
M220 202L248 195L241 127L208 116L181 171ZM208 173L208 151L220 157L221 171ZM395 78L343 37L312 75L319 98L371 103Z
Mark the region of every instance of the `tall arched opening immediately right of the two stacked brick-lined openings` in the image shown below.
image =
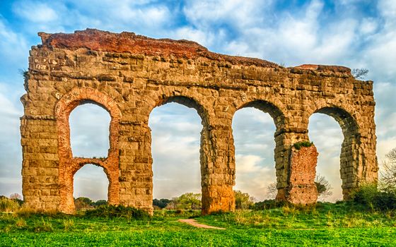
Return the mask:
M201 193L202 114L202 107L187 97L171 97L151 112L154 199Z

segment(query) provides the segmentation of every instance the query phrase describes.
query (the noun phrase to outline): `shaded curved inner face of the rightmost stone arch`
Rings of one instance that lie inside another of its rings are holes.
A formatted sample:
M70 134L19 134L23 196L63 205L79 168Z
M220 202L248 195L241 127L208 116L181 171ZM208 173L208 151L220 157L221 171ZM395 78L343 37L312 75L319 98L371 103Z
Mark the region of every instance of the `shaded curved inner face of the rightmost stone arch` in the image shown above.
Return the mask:
M340 155L340 174L342 179L342 193L344 199L349 198L349 193L359 186L359 179L363 171L364 154L360 148L361 131L359 121L356 119L355 112L347 104L325 104L317 103L316 108L309 112L310 115L315 113L326 114L331 116L342 129L344 140L341 146Z

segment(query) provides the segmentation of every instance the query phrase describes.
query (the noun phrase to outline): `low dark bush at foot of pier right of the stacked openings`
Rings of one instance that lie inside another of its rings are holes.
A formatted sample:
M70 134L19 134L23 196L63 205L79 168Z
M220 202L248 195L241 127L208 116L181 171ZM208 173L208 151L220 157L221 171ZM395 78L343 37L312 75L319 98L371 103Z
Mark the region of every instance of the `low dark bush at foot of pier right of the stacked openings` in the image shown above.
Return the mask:
M135 207L126 207L123 205L100 205L94 210L88 210L85 216L90 217L105 217L117 218L124 217L127 219L146 219L149 217L147 212L139 210Z

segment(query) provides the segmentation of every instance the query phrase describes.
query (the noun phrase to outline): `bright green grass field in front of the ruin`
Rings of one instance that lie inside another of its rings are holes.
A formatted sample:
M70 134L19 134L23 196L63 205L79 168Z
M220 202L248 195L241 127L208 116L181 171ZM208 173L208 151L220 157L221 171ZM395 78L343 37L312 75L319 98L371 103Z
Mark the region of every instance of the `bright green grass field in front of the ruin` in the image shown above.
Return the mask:
M226 229L177 222L189 217ZM396 212L325 203L208 216L162 210L143 219L8 213L0 246L396 246Z

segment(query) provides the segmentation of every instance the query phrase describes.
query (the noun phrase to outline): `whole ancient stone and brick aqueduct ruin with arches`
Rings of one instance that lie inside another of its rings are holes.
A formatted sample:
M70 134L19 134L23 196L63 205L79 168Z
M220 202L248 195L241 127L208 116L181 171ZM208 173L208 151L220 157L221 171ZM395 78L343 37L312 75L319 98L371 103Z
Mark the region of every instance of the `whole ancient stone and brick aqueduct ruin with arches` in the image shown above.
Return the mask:
M202 118L202 213L234 210L235 155L231 121L243 107L274 119L278 200L315 203L315 146L308 119L332 116L344 133L340 173L344 198L377 180L373 82L342 66L284 68L269 61L209 52L195 42L155 40L100 30L39 33L25 78L21 118L23 196L40 210L75 210L73 178L84 164L103 167L112 204L153 211L151 111L168 102ZM105 159L74 157L69 114L93 102L111 116ZM236 167L238 169L238 167Z

